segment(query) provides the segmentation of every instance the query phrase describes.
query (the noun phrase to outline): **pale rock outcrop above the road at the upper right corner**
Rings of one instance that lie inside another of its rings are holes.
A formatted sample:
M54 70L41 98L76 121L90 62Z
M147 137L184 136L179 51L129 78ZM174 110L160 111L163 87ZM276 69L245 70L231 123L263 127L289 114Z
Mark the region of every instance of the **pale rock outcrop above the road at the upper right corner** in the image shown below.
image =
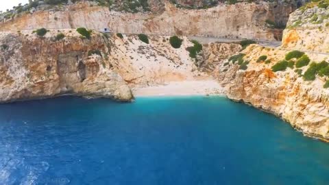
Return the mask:
M329 52L329 12L310 3L289 17L282 47L305 51Z

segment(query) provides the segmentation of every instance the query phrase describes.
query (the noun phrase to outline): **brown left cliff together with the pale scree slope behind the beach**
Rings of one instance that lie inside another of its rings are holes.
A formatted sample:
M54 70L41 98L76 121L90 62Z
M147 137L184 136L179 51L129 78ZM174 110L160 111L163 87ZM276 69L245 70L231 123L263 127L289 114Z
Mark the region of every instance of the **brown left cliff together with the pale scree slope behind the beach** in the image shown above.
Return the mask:
M56 38L60 33L65 37ZM0 101L58 95L130 101L130 88L210 79L186 50L193 43L182 39L180 49L174 49L167 36L149 36L146 44L136 35L93 32L90 39L82 38L75 29L52 30L43 37L0 32Z

